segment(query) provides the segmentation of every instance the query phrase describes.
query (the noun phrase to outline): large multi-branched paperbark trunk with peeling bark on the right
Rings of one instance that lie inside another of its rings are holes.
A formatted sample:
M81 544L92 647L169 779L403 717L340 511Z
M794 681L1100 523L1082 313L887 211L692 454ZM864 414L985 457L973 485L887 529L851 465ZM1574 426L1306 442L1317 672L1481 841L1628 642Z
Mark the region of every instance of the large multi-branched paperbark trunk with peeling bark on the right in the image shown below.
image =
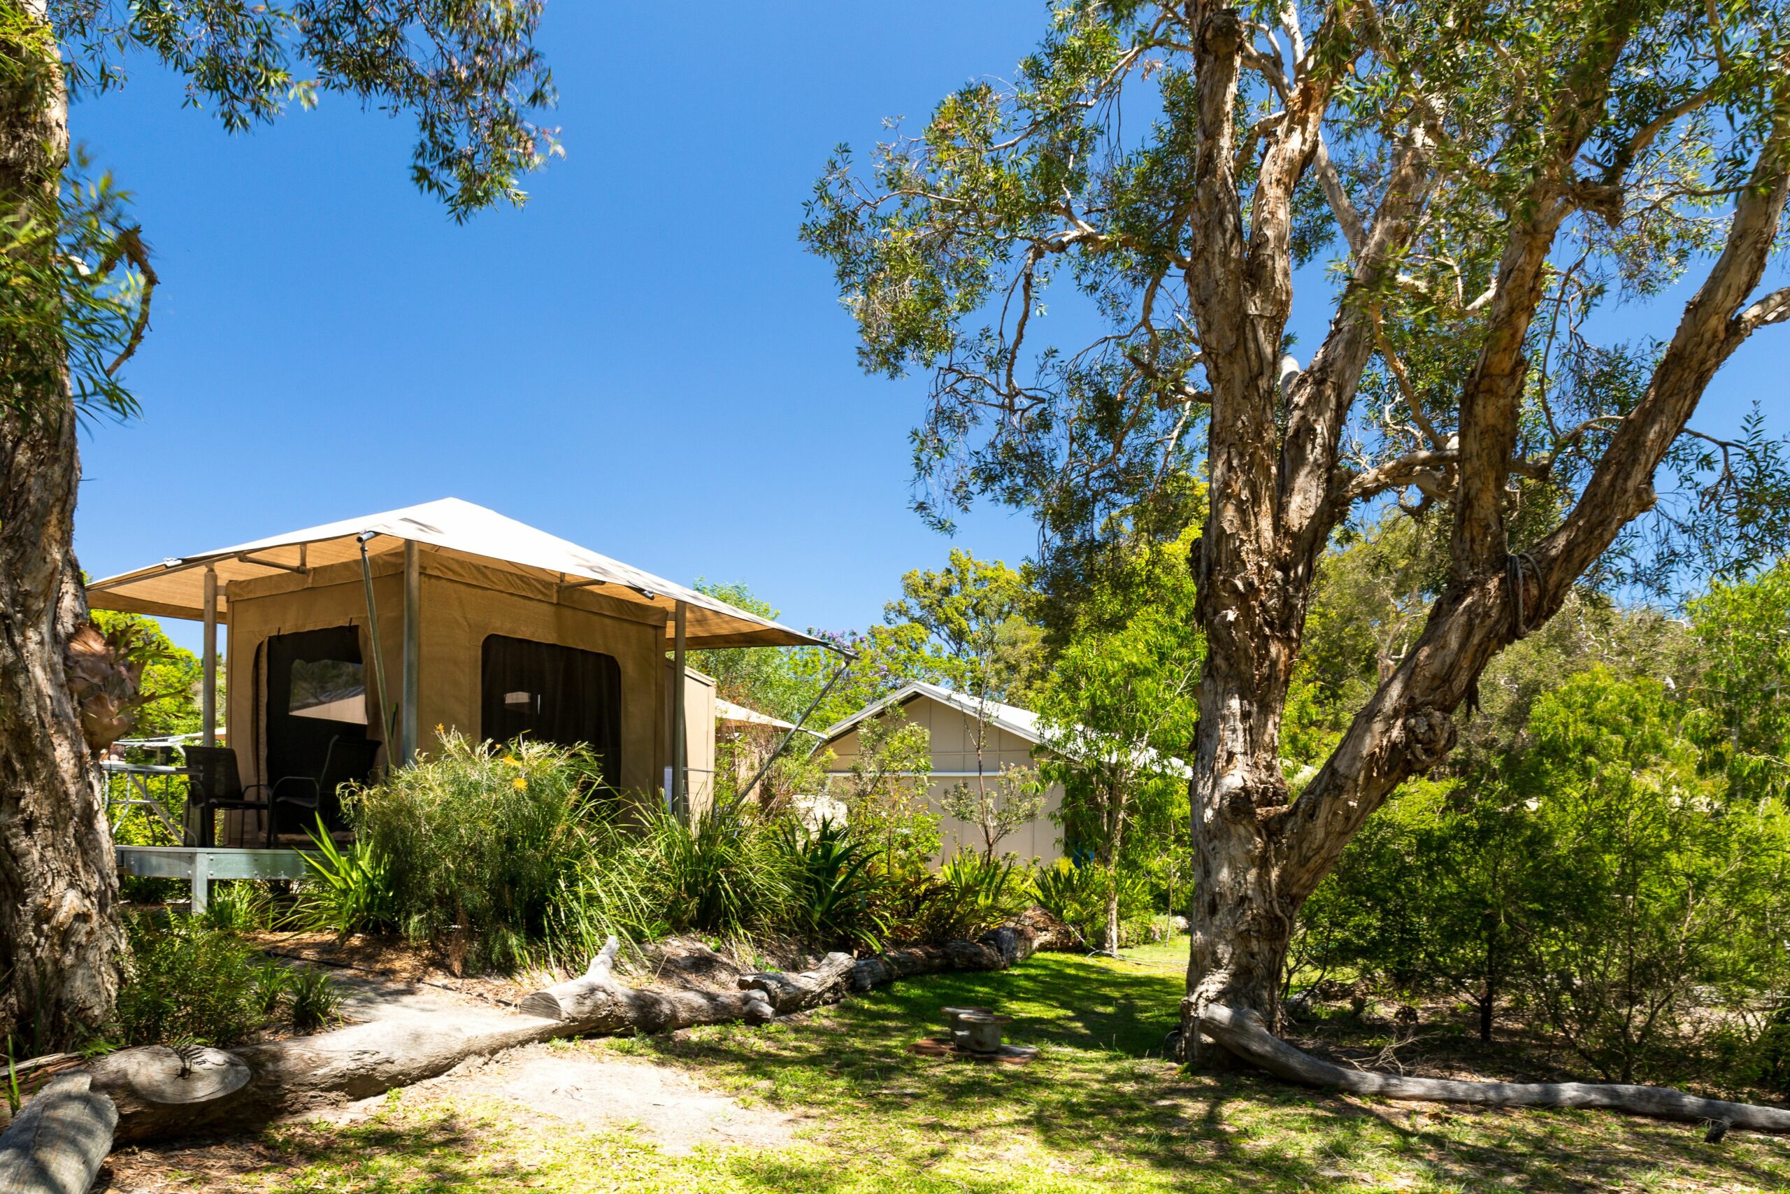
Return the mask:
M1684 431L1709 378L1758 328L1790 315L1790 290L1754 299L1790 192L1790 93L1774 93L1770 138L1736 192L1727 243L1645 396L1609 430L1607 446L1566 517L1520 555L1505 521L1511 476L1538 467L1513 456L1523 345L1563 220L1584 202L1573 163L1606 111L1611 73L1636 20L1600 11L1564 68L1543 129L1550 168L1511 204L1505 245L1484 306L1480 354L1462 381L1457 442L1355 471L1339 451L1355 390L1377 347L1373 295L1407 243L1432 177L1434 111L1414 109L1369 227L1350 236L1351 277L1335 320L1301 371L1280 358L1292 304L1291 202L1317 150L1337 73L1317 41L1346 43L1353 25L1326 18L1264 138L1248 226L1237 177L1237 88L1248 36L1219 4L1190 5L1198 168L1183 267L1208 381L1210 508L1194 567L1206 637L1190 784L1194 897L1183 1042L1199 1026L1258 1015L1280 1026L1280 979L1292 922L1350 838L1405 779L1441 763L1461 707L1487 661L1552 618L1584 571L1654 503L1652 474ZM1341 61L1341 59L1337 59ZM1539 464L1543 474L1552 458ZM1421 635L1355 714L1328 761L1291 798L1280 773L1280 723L1305 632L1317 560L1357 503L1425 474L1450 487L1450 573Z

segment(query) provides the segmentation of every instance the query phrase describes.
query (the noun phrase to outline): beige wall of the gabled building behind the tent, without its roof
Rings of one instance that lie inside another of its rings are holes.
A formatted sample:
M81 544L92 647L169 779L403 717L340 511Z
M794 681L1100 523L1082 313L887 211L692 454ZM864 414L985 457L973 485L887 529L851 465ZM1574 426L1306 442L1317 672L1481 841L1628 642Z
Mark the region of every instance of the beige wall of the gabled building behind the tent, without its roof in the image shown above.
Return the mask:
M981 850L983 831L954 816L945 816L942 806L945 791L959 779L970 784L976 782L976 718L931 696L915 696L902 707L902 712L908 716L908 721L925 727L933 746L933 775L936 779L927 789L927 798L933 804L933 811L940 816L942 840L942 849L934 861L943 861L959 845ZM857 730L841 736L831 745L831 750L834 761L829 764L829 773L834 777L848 775L859 752ZM1031 752L1031 741L1017 734L1008 734L999 727L988 727L983 743L983 772L999 775L1002 766L1035 766L1036 761ZM950 775L952 772L968 775ZM1061 784L1051 784L1044 793L1044 807L1038 811L1038 816L1013 831L997 849L1026 859L1056 861L1063 856L1063 847L1058 841L1061 832L1056 822L1051 820L1051 814L1061 811L1061 807L1063 788Z

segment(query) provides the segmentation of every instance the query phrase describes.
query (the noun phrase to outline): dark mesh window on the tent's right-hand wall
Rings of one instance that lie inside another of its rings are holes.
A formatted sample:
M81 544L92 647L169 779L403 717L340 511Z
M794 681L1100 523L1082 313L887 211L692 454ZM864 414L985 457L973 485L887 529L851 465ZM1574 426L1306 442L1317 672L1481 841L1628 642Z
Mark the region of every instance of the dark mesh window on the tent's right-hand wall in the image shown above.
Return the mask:
M485 639L482 734L585 745L603 780L621 777L621 664L614 655L492 634Z

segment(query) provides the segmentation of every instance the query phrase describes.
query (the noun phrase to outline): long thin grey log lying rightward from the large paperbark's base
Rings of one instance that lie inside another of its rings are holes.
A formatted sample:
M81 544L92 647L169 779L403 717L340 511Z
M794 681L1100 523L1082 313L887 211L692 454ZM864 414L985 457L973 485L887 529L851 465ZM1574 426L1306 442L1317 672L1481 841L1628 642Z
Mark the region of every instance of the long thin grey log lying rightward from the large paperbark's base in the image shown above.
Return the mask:
M1199 1013L1199 1031L1239 1058L1276 1078L1301 1087L1342 1090L1384 1099L1423 1103L1475 1103L1480 1106L1586 1106L1652 1119L1686 1122L1722 1122L1754 1131L1790 1133L1790 1110L1752 1103L1699 1099L1670 1087L1631 1087L1616 1083L1507 1083L1453 1081L1446 1078L1405 1078L1351 1070L1294 1049L1267 1031L1255 1011L1208 1004Z

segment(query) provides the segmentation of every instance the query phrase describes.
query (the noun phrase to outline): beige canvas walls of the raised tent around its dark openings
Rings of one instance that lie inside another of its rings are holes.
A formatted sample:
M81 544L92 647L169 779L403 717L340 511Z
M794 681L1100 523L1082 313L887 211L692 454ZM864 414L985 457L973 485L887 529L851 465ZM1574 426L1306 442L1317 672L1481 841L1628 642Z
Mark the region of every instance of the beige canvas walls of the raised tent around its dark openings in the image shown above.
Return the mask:
M419 621L417 725L422 748L435 739L435 727L480 736L480 671L487 635L501 634L535 643L553 643L612 655L621 669L621 786L657 791L669 757L669 669L664 661L664 614L652 607L616 601L582 589L558 589L505 569L422 555ZM374 603L385 680L403 684L403 566L401 557L374 557ZM243 782L258 782L261 759L261 709L265 691L258 648L268 635L354 625L367 661L369 698L379 707L367 634L367 600L358 564L313 569L310 575L268 576L238 582L229 593L231 668L227 718L231 745L243 770ZM696 686L702 687L700 684ZM689 739L691 766L714 768L714 691L707 687L707 736ZM390 704L390 702L387 702ZM703 716L698 709L691 718ZM378 712L369 734L385 738Z

